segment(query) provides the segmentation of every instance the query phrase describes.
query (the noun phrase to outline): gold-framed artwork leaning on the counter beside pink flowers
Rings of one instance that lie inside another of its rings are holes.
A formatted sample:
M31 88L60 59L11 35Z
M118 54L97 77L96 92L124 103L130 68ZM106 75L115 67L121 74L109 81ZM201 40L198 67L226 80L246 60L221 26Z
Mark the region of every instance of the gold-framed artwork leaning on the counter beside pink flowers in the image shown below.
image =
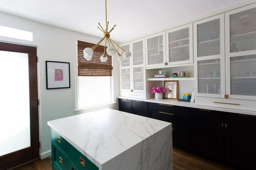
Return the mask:
M178 99L178 81L165 81L164 83L165 87L165 99Z

